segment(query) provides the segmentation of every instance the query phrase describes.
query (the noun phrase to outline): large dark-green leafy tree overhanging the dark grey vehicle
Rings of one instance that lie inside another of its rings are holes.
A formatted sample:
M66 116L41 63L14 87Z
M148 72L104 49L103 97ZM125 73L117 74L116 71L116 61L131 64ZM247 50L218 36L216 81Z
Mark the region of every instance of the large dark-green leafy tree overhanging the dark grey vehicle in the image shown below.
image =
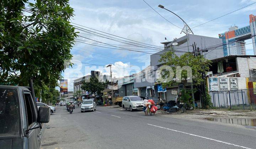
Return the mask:
M2 0L0 9L0 84L28 85L33 79L36 94L48 96L47 87L57 86L64 68L72 66L73 8L68 0Z

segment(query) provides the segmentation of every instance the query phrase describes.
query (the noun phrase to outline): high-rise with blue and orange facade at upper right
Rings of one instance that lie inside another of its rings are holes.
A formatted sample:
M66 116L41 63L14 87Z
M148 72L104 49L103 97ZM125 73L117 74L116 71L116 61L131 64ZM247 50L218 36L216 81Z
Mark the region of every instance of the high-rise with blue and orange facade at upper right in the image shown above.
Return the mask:
M233 26L229 31L219 34L222 39L224 56L246 55L245 40L252 39L254 55L256 55L256 16L249 15L249 26L238 28Z

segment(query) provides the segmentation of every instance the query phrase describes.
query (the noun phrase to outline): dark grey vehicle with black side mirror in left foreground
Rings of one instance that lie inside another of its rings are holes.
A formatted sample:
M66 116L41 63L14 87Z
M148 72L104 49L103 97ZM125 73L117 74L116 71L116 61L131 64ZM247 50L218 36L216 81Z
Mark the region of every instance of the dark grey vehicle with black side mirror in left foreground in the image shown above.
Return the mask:
M0 85L0 148L40 149L50 108L37 109L32 87Z

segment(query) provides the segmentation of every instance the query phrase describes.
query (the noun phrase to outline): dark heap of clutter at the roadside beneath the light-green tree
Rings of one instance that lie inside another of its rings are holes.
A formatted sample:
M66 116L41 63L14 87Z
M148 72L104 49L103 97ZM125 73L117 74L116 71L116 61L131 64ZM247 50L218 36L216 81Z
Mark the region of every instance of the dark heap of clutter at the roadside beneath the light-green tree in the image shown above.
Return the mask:
M179 110L185 111L185 110L192 110L191 107L188 107L186 104L181 104L180 101L177 101L177 103L174 100L168 101L165 106L162 107L164 111L173 113L177 112Z

